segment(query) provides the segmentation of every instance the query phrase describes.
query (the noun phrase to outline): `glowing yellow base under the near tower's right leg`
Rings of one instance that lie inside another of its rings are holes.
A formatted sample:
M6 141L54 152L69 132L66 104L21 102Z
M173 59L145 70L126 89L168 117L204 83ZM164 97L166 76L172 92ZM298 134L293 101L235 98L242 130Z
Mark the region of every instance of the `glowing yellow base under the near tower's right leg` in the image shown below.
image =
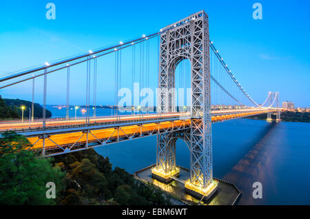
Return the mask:
M218 190L218 181L213 180L213 182L205 189L203 189L199 185L190 183L190 180L187 180L184 186L185 186L185 192L187 194L196 196L200 200L209 200L209 198L211 198L211 196L215 194L216 191Z

